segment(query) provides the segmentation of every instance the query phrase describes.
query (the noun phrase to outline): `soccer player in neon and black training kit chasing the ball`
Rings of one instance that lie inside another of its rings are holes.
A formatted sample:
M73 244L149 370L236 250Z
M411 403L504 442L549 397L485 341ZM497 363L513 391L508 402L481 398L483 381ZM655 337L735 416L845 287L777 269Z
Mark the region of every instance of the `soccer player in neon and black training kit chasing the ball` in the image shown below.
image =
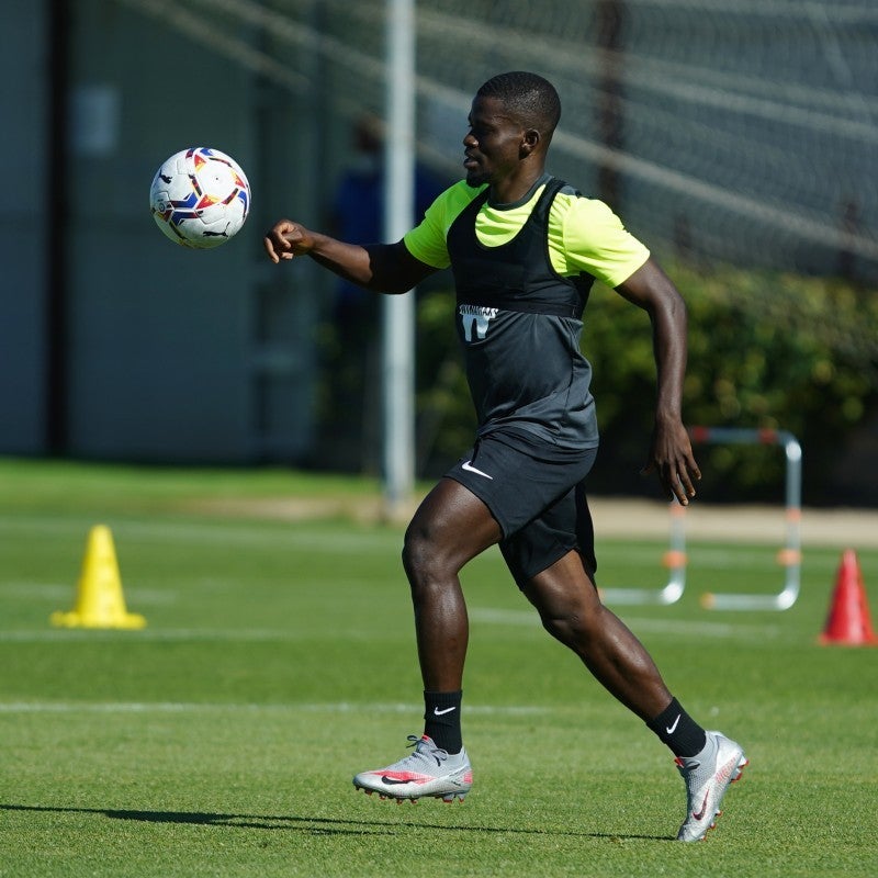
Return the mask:
M599 599L585 480L598 446L590 365L579 350L595 278L651 318L657 395L645 472L688 505L700 477L682 420L686 308L649 250L610 209L545 172L561 116L554 87L530 72L477 91L463 138L465 180L395 244L351 245L281 219L264 245L275 263L307 255L381 293L405 293L451 267L455 324L479 419L473 447L409 524L412 589L425 727L413 752L361 772L356 787L396 799L452 801L472 786L461 735L469 626L459 573L499 544L545 629L666 744L685 780L677 838L703 838L747 761L673 697L644 646ZM620 356L624 356L620 351Z

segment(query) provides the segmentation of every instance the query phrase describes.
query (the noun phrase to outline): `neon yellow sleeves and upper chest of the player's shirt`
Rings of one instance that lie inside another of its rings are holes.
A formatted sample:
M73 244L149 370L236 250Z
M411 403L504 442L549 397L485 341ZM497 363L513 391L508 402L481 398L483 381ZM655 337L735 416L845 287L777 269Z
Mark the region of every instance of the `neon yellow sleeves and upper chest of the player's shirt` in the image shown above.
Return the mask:
M530 216L544 184L524 203L493 205L485 202L475 222L475 234L485 247L511 240ZM416 259L437 269L451 260L446 235L458 214L484 187L473 188L461 180L447 189L427 209L421 223L403 240ZM603 202L577 195L565 187L558 193L549 213L549 257L554 270L570 278L586 272L618 286L649 259L650 251L622 225Z

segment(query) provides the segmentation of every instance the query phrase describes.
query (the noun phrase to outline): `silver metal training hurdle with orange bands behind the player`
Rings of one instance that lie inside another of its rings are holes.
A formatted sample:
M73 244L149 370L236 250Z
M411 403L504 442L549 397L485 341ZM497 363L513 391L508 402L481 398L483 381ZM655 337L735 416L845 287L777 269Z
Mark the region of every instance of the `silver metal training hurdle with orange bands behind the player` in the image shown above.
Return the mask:
M693 427L689 436L696 444L774 444L781 446L786 468L786 544L777 553L785 571L783 589L776 595L714 594L701 595L701 606L711 610L787 610L799 597L801 579L801 461L802 450L787 430L761 430L735 427ZM676 604L686 588L686 508L673 502L671 509L671 544L662 558L669 570L667 585L661 589L601 588L609 604Z

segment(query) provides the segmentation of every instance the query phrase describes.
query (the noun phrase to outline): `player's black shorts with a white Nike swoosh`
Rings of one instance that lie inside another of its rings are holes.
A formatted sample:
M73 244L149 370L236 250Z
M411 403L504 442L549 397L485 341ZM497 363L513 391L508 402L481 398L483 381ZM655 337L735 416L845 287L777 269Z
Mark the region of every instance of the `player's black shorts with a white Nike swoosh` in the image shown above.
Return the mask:
M572 549L594 579L595 534L584 480L596 455L596 448L571 452L539 443L526 451L518 437L508 443L491 435L446 473L491 510L519 587Z

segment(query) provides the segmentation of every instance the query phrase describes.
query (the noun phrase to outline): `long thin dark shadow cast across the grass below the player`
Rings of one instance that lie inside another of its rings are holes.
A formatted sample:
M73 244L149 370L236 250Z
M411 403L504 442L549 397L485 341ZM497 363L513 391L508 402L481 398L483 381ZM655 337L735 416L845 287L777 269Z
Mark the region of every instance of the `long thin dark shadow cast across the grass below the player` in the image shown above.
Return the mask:
M115 808L61 808L38 804L2 804L0 811L32 813L100 814L113 820L133 820L144 823L177 823L196 826L229 826L251 830L292 830L308 835L399 835L409 829L439 830L449 833L496 833L500 835L573 836L583 838L610 838L619 841L672 841L666 835L633 835L610 832L576 832L574 830L522 829L519 826L446 826L419 821L339 820L323 817L269 817L264 814L216 814L201 811L133 811Z

